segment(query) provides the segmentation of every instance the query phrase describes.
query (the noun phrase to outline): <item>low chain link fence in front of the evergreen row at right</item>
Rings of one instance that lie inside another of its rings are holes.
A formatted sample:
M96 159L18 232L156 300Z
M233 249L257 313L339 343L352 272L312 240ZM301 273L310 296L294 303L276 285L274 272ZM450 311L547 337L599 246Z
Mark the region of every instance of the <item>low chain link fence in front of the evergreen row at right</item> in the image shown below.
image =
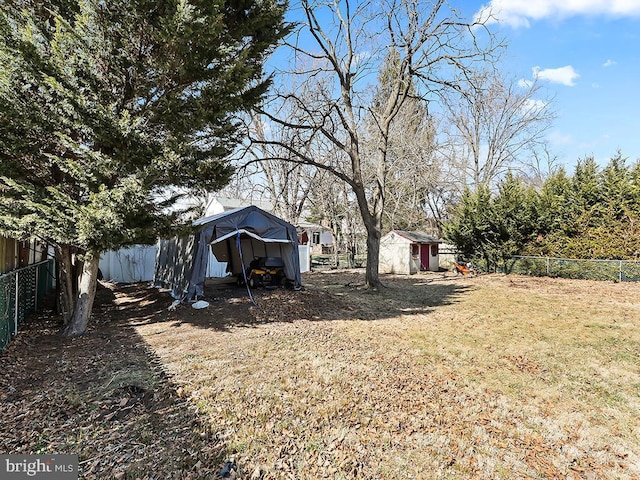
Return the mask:
M505 264L505 273L583 280L639 282L640 262L513 256L511 261Z

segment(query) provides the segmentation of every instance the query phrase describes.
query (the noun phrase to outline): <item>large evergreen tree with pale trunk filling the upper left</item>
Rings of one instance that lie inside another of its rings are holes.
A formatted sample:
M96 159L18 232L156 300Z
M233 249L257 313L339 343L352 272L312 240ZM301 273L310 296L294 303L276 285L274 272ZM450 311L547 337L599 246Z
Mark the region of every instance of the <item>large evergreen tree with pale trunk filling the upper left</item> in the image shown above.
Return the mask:
M55 246L67 334L86 329L100 252L169 225L160 189L228 181L234 114L268 87L262 64L286 33L284 9L0 3L0 230Z

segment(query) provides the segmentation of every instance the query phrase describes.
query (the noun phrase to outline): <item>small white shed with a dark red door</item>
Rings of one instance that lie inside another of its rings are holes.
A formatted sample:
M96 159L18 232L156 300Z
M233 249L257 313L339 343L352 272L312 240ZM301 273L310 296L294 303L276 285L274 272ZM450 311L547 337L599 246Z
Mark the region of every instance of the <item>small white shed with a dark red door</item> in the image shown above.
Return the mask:
M392 230L380 239L380 272L410 275L440 268L436 237L422 232Z

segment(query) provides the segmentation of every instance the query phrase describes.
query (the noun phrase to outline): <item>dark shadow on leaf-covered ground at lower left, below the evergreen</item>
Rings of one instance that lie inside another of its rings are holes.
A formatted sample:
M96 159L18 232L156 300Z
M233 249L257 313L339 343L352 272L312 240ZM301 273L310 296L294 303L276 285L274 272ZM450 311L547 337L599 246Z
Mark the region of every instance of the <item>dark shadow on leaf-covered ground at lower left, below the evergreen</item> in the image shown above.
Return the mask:
M140 285L101 288L81 337L60 336L52 312L25 322L1 357L3 452L78 454L81 479L217 478L229 455L220 433L133 327L162 317L158 299Z

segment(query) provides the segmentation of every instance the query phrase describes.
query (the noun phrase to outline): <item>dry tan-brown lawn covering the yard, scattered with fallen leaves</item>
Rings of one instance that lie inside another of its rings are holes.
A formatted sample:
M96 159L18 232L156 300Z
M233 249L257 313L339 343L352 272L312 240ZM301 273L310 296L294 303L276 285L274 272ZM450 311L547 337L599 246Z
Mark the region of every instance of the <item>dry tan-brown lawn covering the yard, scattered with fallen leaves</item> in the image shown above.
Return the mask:
M227 462L245 479L640 478L640 284L383 279L372 293L361 273L305 274L304 291L256 291L257 306L212 283L208 309L171 313L165 293L116 288L87 338L60 342L135 339L144 354L93 365L76 394L102 426L51 438L86 478L217 478ZM122 415L136 394L139 416ZM96 437L118 432L125 447L101 453Z

